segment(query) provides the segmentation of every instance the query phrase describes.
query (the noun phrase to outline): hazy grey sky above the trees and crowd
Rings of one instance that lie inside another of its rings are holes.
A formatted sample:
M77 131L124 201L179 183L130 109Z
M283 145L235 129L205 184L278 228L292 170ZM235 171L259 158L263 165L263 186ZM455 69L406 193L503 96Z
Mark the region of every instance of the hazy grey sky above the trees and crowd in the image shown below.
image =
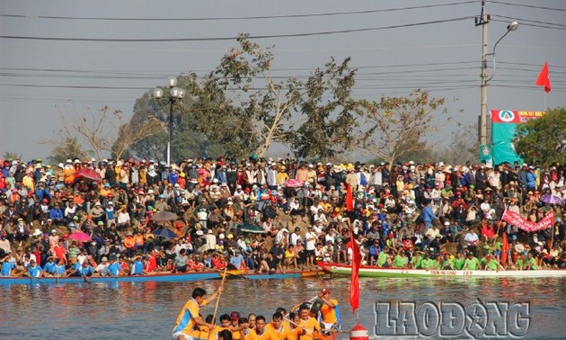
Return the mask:
M566 106L566 1L487 1L486 9L490 53L509 22L520 25L497 47L489 110L543 110L544 91L534 83L545 60L553 86L546 106ZM356 96L422 88L447 98L455 121L473 124L480 10L480 1L458 0L2 1L0 157L48 157L50 147L37 141L58 129L60 112L70 119L108 105L131 117L136 99L170 76L215 67L239 32L275 46L277 76L305 76L331 57L351 57Z

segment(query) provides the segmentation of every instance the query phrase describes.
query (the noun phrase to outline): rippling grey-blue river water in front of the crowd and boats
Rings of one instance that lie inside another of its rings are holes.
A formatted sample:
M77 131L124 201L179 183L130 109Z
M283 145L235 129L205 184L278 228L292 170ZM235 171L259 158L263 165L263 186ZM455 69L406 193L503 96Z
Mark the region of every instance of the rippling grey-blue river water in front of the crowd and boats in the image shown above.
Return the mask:
M171 339L173 323L193 288L212 292L219 285L220 281L1 286L0 339ZM217 315L238 310L270 320L277 307L288 309L310 300L323 287L341 303L342 329L351 329L355 316L349 307L349 280L344 278L228 280ZM525 338L563 339L565 289L566 279L361 279L359 318L375 337L378 300L529 302L531 324ZM214 303L201 309L203 315L213 311Z

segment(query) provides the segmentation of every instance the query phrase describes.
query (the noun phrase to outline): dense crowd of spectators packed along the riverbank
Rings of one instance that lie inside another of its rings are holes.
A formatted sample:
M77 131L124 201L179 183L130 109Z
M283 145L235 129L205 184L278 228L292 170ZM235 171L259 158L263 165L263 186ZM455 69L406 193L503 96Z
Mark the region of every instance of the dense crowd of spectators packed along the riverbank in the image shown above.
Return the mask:
M2 166L3 275L312 269L349 261L350 230L370 265L457 268L468 253L477 268L564 265L559 164L390 168L218 157ZM533 222L552 211L555 223L528 233L501 221L505 210ZM503 234L509 251L498 267Z

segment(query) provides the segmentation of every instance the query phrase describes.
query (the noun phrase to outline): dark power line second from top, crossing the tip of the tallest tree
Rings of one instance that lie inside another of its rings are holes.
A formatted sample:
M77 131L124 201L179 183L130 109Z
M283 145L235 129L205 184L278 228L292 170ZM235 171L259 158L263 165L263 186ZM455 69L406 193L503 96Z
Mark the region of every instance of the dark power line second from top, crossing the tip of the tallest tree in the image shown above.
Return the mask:
M255 35L250 36L250 39L275 39L275 38L291 38L291 37L309 37L319 35L343 34L354 33L362 31L382 31L392 30L398 28L407 28L415 26L425 26L430 24L444 23L444 22L458 22L462 20L472 19L473 16L463 16L459 18L435 20L431 22L414 22L404 23L400 25L390 25L382 27L369 27L362 29L351 30L338 30L338 31L317 31L306 33L289 33L289 34L270 34L270 35ZM34 37L34 36L16 36L16 35L0 35L2 39L15 39L15 40L49 40L49 41L102 41L102 42L181 42L181 41L218 41L218 40L234 40L235 37L212 37L212 38L165 38L165 39L117 39L117 38L55 38L55 37Z

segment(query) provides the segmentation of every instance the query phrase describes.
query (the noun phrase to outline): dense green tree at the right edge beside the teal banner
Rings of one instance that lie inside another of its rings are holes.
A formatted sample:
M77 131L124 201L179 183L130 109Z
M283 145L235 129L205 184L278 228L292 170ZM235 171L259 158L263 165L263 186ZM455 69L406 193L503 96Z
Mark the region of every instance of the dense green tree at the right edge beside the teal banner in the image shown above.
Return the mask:
M566 161L566 109L517 125L513 139L517 155L527 163L549 166Z

